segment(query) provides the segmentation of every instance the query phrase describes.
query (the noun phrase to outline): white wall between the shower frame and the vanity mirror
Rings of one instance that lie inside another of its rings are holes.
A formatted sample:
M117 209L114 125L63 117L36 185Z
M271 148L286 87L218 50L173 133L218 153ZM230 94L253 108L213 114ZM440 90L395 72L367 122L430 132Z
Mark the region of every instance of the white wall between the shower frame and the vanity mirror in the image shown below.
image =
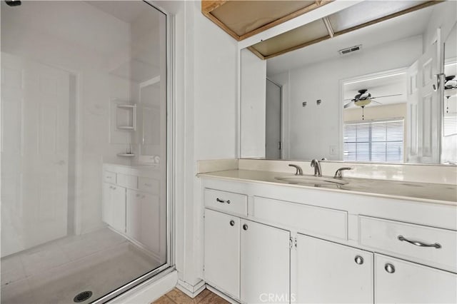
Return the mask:
M174 14L174 207L179 282L202 278L203 206L196 161L237 157L237 42L200 1L156 1Z

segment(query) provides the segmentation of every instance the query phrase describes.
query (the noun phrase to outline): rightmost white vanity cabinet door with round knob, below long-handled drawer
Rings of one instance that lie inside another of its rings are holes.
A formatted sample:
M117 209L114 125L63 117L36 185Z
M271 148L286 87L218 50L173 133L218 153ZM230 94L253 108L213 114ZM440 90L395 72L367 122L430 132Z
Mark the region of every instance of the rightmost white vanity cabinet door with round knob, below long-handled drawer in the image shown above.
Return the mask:
M457 275L375 254L375 303L457 303Z

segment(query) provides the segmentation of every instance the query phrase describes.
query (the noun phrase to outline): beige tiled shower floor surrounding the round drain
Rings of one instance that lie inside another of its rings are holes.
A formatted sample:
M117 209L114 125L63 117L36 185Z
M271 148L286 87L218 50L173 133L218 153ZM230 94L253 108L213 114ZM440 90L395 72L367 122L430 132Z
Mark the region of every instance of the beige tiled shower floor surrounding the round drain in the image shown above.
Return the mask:
M1 303L91 303L161 265L118 233L104 228L1 259Z

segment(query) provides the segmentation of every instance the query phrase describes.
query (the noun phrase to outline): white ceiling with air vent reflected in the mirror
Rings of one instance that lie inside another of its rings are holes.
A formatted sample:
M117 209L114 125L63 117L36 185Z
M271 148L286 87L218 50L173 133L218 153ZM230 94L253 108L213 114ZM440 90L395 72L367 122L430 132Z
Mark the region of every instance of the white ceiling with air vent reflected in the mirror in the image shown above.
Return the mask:
M338 53L338 50L350 46L362 44L362 48L366 49L386 44L389 41L421 35L426 29L433 8L434 6L429 6L268 59L267 76L281 74L320 61L338 59L341 56L351 56L351 54L340 55Z

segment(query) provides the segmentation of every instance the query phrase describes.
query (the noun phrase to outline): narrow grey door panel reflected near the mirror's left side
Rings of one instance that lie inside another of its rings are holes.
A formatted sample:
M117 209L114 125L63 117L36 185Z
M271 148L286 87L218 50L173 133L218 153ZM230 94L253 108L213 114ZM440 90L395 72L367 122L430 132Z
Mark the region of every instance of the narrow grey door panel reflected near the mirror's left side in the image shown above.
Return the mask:
M281 86L266 80L265 157L281 159Z

